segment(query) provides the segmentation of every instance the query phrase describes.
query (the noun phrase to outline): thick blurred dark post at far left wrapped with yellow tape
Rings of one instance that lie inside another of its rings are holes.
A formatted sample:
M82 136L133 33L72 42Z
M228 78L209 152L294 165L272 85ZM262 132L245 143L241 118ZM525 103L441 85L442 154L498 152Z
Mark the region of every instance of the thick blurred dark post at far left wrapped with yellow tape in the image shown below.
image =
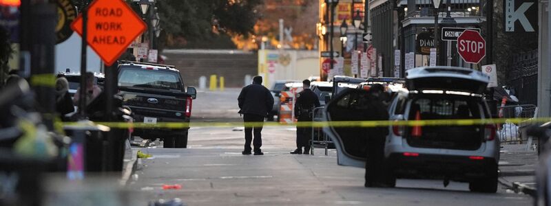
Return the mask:
M30 68L30 84L40 102L48 130L54 130L56 6L50 1L21 1L21 56L23 76Z

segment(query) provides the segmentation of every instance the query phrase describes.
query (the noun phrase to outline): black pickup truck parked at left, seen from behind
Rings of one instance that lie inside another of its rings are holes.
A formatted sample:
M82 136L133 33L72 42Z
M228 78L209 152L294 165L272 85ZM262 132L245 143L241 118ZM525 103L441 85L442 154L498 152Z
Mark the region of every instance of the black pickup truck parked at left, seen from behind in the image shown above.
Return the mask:
M191 102L196 98L194 87L184 87L180 71L169 65L144 62L119 62L118 88L123 104L129 106L135 122L189 123ZM185 128L136 128L134 136L161 139L165 148L187 148Z

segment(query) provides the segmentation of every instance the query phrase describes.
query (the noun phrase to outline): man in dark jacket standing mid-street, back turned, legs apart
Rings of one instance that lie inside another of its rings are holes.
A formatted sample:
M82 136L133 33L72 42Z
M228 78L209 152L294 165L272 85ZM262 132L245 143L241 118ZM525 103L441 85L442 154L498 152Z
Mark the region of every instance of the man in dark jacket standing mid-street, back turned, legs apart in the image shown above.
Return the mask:
M273 97L266 87L262 86L262 77L255 76L253 84L243 87L238 97L240 114L243 114L245 122L245 150L243 155L251 155L251 141L253 140L254 130L254 155L264 155L260 147L262 146L262 126L264 117L268 115L273 106ZM247 125L253 124L253 125Z

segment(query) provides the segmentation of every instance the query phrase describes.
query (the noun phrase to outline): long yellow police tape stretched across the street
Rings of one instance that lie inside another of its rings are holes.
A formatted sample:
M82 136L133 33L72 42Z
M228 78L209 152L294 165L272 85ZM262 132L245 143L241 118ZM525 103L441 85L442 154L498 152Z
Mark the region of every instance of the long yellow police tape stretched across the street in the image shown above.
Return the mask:
M156 124L148 123L129 123L129 122L94 122L94 124L108 126L110 128L202 128L202 127L382 127L382 126L472 126L472 125L487 125L487 124L537 124L551 122L550 117L546 118L512 118L512 119L430 119L430 120L399 120L399 121L331 121L331 122L296 122L294 124L280 124L279 122L157 122ZM65 126L79 126L76 122L65 122ZM90 125L87 125L90 126Z

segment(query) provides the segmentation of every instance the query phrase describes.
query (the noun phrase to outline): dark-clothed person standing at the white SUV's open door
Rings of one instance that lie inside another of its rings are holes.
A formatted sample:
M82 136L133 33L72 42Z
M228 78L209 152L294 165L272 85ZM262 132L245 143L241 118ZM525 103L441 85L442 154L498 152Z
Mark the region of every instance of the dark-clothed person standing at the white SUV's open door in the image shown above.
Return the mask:
M384 87L381 84L373 84L369 89L368 108L364 113L367 121L388 121L388 111L382 100L383 93ZM366 128L366 134L368 139L365 187L393 187L395 179L393 174L388 173L388 165L384 162L384 141L388 135L388 128Z

